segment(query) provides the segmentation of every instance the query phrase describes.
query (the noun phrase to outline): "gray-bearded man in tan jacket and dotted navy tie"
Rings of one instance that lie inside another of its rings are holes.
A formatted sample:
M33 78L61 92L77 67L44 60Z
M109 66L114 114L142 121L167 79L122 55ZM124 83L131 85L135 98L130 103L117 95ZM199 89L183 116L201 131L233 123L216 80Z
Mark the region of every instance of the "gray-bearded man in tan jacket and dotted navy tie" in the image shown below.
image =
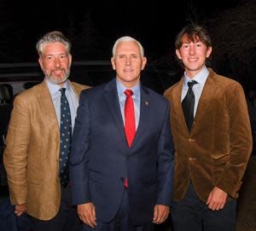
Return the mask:
M44 81L16 96L11 114L3 157L10 199L16 216L32 217L33 231L81 228L65 167L79 94L89 87L67 80L70 49L61 32L49 32L38 41Z

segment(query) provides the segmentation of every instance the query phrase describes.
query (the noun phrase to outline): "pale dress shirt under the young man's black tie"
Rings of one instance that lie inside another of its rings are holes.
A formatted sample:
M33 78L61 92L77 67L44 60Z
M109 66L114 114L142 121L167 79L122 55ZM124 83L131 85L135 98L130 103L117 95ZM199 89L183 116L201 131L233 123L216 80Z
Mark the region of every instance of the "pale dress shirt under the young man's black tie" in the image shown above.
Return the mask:
M195 75L194 78L189 78L186 74L186 72L184 72L184 82L183 82L183 90L182 90L182 97L181 97L181 101L183 101L185 95L187 94L187 91L189 89L188 86L188 82L190 82L191 80L195 80L197 82L197 84L195 84L193 86L193 91L195 94L195 107L194 107L194 118L195 118L195 113L196 113L196 109L198 106L198 101L201 97L201 92L204 89L205 83L207 81L207 77L209 75L209 71L207 69L207 67L205 66L201 72L199 72L197 75Z

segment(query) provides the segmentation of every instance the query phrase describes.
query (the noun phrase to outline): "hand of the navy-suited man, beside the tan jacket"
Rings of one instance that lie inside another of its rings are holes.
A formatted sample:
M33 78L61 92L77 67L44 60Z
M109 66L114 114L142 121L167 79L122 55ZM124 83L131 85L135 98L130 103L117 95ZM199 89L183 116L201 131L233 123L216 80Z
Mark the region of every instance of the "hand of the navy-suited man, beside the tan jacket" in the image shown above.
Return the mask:
M96 210L92 203L78 205L79 218L91 228L96 227Z

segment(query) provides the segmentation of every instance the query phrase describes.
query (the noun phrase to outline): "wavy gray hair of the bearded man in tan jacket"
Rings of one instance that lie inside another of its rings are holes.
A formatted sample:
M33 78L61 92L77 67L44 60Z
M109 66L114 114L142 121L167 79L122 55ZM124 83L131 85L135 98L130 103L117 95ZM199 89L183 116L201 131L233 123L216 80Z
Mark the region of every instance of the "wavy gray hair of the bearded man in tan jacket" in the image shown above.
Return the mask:
M67 53L70 54L70 49L71 49L71 43L68 38L64 36L62 32L49 32L44 34L42 38L37 43L37 50L38 50L38 55L41 56L43 55L44 51L44 46L48 43L54 43L54 42L59 42L63 43L66 47Z

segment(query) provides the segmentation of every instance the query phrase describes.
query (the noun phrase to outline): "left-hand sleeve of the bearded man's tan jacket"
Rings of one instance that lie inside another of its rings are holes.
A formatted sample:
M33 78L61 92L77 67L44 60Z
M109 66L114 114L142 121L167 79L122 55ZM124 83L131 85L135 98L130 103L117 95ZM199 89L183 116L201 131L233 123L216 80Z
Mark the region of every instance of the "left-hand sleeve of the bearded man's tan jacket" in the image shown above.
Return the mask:
M3 163L7 171L9 193L13 205L26 203L26 159L30 137L30 115L26 102L16 96L11 113L7 146L3 153Z

